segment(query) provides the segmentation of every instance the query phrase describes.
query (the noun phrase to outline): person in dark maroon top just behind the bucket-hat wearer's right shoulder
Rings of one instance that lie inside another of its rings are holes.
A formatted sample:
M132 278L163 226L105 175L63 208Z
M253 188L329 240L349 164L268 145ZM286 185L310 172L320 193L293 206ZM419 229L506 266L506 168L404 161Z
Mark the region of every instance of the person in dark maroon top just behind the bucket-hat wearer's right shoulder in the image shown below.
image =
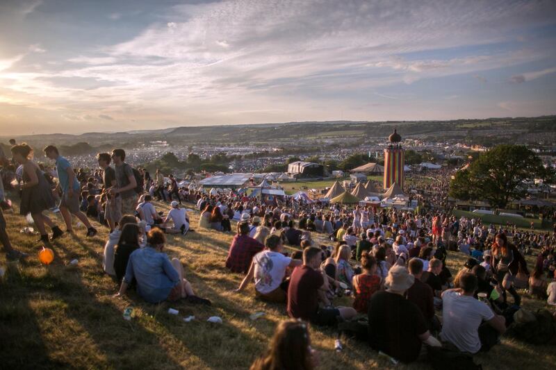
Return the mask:
M434 294L430 285L421 281L423 275L423 262L418 258L409 260L409 274L415 278L415 282L407 289L407 300L415 303L425 317L428 327L433 328L434 320Z

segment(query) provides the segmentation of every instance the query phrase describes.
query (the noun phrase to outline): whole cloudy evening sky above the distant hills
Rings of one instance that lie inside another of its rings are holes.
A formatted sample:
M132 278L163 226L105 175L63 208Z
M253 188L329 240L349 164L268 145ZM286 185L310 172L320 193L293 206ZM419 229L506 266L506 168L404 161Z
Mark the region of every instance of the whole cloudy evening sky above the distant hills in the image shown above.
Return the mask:
M556 113L556 1L0 0L0 135Z

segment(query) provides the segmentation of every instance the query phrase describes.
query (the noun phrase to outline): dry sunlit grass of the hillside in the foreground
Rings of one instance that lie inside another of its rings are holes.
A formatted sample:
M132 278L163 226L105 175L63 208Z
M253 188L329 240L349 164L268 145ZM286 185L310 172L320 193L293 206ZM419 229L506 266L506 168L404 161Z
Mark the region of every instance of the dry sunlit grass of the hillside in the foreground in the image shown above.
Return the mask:
M161 205L159 205L161 207ZM252 286L243 294L232 293L242 276L224 270L224 259L232 235L199 230L186 237L168 237L167 253L186 265L186 276L199 296L213 301L211 308L187 303L150 305L131 293L117 299L117 286L101 268L101 253L107 232L87 239L81 229L77 237L65 236L54 243L56 260L49 267L38 262L36 237L22 235L26 221L6 215L13 244L30 253L19 271L10 268L0 285L0 368L51 369L247 369L261 355L276 324L286 318L282 305L254 299ZM193 225L198 215L190 212ZM77 269L65 265L79 259ZM464 260L450 253L450 268ZM6 266L0 255L0 266ZM349 298L343 298L344 303ZM523 299L531 308L542 303ZM127 306L135 308L131 321L122 319ZM179 316L167 314L168 308ZM266 316L251 321L252 312ZM185 323L181 318L195 315ZM222 325L206 322L222 317ZM341 354L334 352L336 333L311 328L313 347L318 349L322 369L389 368L366 346L347 341ZM556 361L553 347L527 346L502 340L488 355L478 355L484 367L548 369ZM404 366L398 366L404 369ZM428 369L424 363L411 368Z

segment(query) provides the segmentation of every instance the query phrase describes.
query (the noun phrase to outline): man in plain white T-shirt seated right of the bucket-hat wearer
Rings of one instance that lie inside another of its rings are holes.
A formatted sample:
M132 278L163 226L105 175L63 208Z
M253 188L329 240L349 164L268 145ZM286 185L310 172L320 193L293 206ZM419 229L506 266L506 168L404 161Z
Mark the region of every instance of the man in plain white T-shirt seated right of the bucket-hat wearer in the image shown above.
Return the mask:
M459 278L461 289L448 289L442 294L441 339L461 352L473 354L489 351L506 331L504 317L473 298L477 284L475 275L464 273Z

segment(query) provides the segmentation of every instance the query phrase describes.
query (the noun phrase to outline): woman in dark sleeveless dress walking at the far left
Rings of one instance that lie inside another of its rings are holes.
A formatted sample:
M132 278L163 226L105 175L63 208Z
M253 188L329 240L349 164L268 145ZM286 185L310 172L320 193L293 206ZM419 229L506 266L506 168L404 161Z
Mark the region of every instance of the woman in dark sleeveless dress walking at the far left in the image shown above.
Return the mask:
M23 183L19 185L21 190L21 204L19 206L19 213L27 215L31 213L33 221L37 226L40 233L40 241L48 243L48 233L44 224L47 224L52 229L52 239L56 239L63 235L63 231L58 228L48 216L42 215L42 211L54 208L54 198L47 179L40 170L40 167L33 162L31 153L33 149L27 144L19 144L12 146L12 155L19 165L22 165Z

